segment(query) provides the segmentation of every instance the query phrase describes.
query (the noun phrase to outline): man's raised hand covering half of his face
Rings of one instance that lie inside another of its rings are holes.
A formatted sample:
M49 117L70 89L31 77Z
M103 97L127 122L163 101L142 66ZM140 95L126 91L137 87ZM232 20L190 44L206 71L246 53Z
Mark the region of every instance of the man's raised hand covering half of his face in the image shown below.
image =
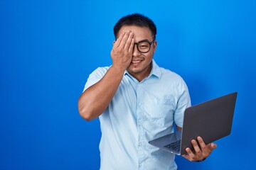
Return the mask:
M123 33L114 42L111 50L112 67L124 71L132 62L132 51L134 48L134 33L131 31Z

